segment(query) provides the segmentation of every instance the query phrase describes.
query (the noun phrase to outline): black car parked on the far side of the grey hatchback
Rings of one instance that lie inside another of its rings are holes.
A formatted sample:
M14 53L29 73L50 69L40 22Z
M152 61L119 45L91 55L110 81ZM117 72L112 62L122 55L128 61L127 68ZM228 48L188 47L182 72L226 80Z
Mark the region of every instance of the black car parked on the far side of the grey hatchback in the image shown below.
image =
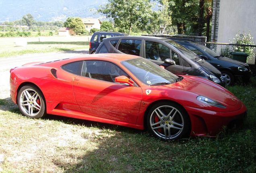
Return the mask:
M172 38L171 40L180 43L182 46L198 54L201 58L220 70L227 85L232 85L237 81L249 82L252 72L248 64L221 56L206 46L196 42Z

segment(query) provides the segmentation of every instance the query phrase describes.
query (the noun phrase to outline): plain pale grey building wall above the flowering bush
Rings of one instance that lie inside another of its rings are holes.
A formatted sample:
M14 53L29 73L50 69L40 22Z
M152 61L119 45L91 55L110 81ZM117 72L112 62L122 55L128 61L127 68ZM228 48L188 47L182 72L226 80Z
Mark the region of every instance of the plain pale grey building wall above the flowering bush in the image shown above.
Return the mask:
M215 0L214 0L215 1ZM256 44L256 0L218 0L219 26L217 42L229 43L235 34L251 31Z

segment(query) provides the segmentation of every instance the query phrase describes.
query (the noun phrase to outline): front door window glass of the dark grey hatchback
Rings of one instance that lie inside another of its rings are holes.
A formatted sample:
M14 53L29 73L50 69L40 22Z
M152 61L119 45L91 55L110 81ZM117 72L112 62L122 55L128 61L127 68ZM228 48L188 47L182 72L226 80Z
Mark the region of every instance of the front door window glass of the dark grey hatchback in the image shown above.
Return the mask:
M170 58L170 49L161 43L145 41L145 58L164 61Z

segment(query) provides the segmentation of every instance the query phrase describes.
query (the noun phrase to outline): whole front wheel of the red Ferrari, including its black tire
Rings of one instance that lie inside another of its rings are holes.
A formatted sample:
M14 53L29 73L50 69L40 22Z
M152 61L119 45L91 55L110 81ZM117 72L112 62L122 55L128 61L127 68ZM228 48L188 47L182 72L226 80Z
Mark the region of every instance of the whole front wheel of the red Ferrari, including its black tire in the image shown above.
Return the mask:
M163 140L180 139L190 132L190 117L177 103L158 103L147 116L149 132Z

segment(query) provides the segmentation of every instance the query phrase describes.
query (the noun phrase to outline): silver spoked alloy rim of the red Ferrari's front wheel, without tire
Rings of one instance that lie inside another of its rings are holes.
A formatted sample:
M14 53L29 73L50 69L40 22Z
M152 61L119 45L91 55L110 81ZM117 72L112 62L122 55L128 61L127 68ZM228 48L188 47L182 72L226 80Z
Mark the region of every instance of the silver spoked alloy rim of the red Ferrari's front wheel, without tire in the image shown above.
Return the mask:
M182 114L175 107L164 105L157 107L150 116L153 132L162 139L174 139L184 129Z

